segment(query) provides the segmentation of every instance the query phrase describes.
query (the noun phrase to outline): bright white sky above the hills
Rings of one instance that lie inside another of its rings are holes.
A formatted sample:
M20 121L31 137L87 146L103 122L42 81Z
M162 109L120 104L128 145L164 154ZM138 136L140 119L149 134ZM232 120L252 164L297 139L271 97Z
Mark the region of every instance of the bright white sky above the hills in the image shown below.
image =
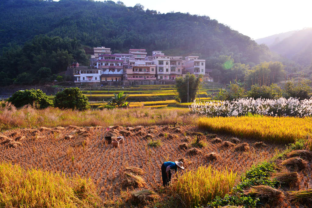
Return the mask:
M144 10L189 12L216 19L252 39L312 27L311 0L121 0ZM115 0L117 2L117 0Z

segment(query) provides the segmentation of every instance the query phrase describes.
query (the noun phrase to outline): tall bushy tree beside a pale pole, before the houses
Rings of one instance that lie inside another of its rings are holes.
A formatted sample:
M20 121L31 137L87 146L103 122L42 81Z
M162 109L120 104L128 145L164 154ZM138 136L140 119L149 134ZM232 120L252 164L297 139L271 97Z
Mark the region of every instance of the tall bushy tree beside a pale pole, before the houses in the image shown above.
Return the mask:
M178 77L176 79L175 87L181 102L193 102L195 100L201 78L202 75L196 78L194 74L187 73L184 78Z

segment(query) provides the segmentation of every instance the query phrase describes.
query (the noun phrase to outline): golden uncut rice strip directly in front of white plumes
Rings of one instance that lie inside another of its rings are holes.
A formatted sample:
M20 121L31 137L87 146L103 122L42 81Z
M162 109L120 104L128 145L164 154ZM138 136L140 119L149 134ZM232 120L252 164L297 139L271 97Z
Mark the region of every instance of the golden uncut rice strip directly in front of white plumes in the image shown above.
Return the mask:
M199 118L198 127L205 131L286 144L311 134L311 122L311 117L203 117Z

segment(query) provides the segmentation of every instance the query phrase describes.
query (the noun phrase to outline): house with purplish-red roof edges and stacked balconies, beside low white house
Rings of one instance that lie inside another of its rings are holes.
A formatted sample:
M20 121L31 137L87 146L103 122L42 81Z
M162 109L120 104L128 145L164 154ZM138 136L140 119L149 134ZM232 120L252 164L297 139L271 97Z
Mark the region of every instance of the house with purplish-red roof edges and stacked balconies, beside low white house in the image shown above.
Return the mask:
M117 82L122 80L124 61L119 55L99 55L96 68L101 71L101 82Z

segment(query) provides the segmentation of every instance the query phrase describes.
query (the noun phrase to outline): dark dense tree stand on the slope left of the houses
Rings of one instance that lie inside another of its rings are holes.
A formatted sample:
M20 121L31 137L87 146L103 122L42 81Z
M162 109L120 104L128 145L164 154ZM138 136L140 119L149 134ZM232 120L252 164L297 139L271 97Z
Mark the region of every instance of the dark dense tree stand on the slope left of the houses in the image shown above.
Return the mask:
M49 82L53 74L65 71L78 61L88 64L88 56L76 39L36 36L23 47L4 47L0 56L0 82L2 85Z

